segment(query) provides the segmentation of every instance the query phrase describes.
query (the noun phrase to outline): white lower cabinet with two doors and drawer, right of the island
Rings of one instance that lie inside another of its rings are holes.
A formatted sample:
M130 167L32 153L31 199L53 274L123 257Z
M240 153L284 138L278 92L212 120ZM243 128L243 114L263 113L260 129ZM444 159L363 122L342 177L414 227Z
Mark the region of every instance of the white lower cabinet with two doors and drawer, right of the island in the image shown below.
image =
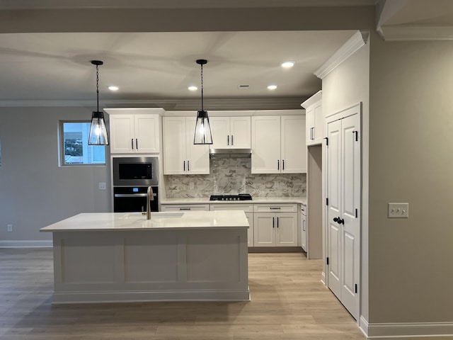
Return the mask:
M297 246L297 204L255 205L253 226L253 246Z

